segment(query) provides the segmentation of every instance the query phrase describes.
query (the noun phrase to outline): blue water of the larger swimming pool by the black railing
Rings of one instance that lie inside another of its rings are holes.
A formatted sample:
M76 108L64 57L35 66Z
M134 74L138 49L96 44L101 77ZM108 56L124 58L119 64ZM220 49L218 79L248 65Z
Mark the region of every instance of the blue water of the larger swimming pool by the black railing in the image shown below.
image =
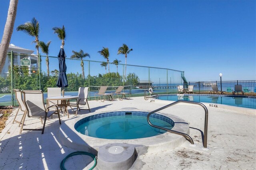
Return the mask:
M160 100L170 101L196 101L202 103L214 103L229 106L245 107L250 109L256 109L256 97L249 96L234 96L234 95L159 95Z

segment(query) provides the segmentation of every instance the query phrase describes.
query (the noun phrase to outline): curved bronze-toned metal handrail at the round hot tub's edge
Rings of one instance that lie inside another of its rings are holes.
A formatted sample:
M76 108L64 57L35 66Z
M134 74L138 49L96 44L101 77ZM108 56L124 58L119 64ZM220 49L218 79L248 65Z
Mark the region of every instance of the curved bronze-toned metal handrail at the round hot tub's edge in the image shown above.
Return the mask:
M148 123L150 126L152 127L155 127L155 128L160 128L162 130L166 130L168 132L171 132L171 133L174 133L174 134L178 134L178 135L181 135L181 136L184 136L184 138L188 139L190 141L191 144L194 144L194 141L193 139L186 133L182 133L182 132L178 132L178 131L175 131L175 130L170 130L170 129L167 129L167 128L163 128L163 127L159 127L159 126L156 126L156 125L153 125L150 120L149 120L149 117L152 113L155 113L155 112L158 112L158 111L161 111L163 109L166 109L170 106L173 106L173 105L176 105L178 103L190 103L190 104L194 104L194 105L200 105L204 108L204 112L205 112L205 116L204 116L204 133L203 133L203 146L204 148L207 148L207 130L208 130L208 109L206 108L206 106L202 103L199 103L199 102L195 102L195 101L184 101L184 100L178 100L178 101L175 101L174 103L171 103L169 105L166 105L164 107L161 107L159 109L156 109L150 113L148 113L148 117L147 117L147 120L148 120Z

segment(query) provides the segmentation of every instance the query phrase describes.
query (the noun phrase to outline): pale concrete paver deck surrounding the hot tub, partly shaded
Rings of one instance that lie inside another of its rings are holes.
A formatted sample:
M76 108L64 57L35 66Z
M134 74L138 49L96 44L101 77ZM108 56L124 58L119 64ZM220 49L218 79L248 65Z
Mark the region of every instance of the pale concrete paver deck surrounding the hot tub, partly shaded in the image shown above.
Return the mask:
M91 113L97 114L127 107L153 111L166 103L134 97L123 101L89 101L89 105ZM185 145L175 149L166 148L164 152L138 155L130 169L256 169L256 111L206 107L209 111L207 144L212 148L210 154L186 148ZM0 169L60 169L62 159L77 151L61 144L58 119L46 122L44 134L40 131L22 131L19 134L18 124L12 124L16 111L10 115L0 133ZM188 122L190 136L195 143L202 145L198 129L204 130L204 111L200 106L180 103L164 111ZM77 117L84 117L88 113L81 110ZM75 118L70 116L70 119ZM61 117L62 123L70 119ZM39 119L26 118L25 124L27 128L42 127ZM73 156L68 158L65 167L89 169L93 164L89 156Z

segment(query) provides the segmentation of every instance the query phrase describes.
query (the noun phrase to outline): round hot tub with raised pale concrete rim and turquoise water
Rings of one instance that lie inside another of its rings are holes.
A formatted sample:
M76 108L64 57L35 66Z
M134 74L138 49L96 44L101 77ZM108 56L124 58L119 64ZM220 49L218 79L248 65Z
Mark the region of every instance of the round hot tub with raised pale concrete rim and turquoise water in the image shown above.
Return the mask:
M58 139L64 146L94 154L100 146L112 143L133 145L140 153L156 153L176 148L186 141L178 134L150 127L148 113L133 109L86 114L62 123ZM157 112L150 115L150 121L189 135L188 123L175 115Z

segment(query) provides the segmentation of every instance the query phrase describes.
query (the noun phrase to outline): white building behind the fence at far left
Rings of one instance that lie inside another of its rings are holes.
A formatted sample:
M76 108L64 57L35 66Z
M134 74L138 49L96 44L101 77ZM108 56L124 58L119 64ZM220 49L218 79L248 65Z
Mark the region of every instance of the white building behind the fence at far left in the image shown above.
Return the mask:
M0 44L1 45L1 44ZM38 67L38 57L37 55L33 54L33 50L25 49L22 47L17 47L14 44L10 44L7 53L13 51L14 59L13 64L20 66L20 60L24 57L27 57L31 61L30 67ZM26 54L26 55L20 55L20 54ZM9 55L6 57L6 61L4 64L4 68L2 70L1 76L8 75L8 69L11 65L10 57Z

